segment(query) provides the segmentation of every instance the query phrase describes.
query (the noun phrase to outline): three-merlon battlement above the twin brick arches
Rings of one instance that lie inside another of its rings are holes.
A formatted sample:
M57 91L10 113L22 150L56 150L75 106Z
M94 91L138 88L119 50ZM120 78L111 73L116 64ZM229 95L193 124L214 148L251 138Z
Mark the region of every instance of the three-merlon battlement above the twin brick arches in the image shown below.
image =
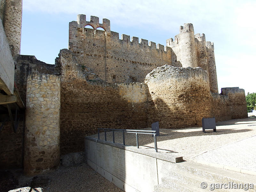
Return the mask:
M99 22L99 17L91 16L91 20L86 21L86 15L77 15L77 28L84 28L87 25L90 25L94 30L103 28L107 33L110 33L110 20L103 19L101 24Z

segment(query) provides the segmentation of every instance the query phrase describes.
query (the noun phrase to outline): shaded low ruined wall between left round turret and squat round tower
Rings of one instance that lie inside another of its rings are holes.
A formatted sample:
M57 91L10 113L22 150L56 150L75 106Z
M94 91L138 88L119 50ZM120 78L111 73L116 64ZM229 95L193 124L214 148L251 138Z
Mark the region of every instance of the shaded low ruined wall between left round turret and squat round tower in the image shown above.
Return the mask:
M56 65L61 69L62 155L83 151L84 136L97 133L97 128L147 127L148 88L145 84L105 83L90 68L78 65L74 54L68 50L61 50Z

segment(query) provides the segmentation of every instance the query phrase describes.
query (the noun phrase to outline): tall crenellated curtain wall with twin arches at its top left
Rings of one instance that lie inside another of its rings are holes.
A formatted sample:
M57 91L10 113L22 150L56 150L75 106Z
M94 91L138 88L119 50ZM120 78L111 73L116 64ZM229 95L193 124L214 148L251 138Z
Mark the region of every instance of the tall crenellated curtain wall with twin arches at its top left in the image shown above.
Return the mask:
M96 29L84 28L91 25ZM154 68L164 64L171 65L171 49L164 45L149 42L138 37L122 35L110 31L110 21L91 16L91 22L85 21L85 15L78 15L77 21L69 23L69 50L84 64L108 83L143 82L145 76Z

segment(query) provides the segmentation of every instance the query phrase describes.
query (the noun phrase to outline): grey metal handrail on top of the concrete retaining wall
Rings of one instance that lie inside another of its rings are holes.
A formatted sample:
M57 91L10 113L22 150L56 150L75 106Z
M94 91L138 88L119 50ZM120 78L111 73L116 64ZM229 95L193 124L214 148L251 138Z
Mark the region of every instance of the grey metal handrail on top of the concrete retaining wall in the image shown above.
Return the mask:
M139 148L139 137L138 134L149 134L154 136L155 151L157 152L157 142L156 142L156 131L150 130L136 130L136 129L104 129L98 128L98 138L100 139L100 130L104 130L105 141L107 141L107 132L113 132L113 143L115 143L115 132L123 132L123 144L125 145L124 133L135 133L136 134L136 145Z

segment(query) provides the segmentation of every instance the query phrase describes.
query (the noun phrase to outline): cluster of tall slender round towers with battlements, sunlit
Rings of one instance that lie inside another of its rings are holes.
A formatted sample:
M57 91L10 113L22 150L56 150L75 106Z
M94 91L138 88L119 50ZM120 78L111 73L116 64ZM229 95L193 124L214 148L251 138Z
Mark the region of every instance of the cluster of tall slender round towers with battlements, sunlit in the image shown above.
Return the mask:
M180 26L180 34L166 40L171 47L172 65L178 67L201 67L209 76L210 90L218 93L217 72L213 43L205 41L205 35L195 34L191 23Z

